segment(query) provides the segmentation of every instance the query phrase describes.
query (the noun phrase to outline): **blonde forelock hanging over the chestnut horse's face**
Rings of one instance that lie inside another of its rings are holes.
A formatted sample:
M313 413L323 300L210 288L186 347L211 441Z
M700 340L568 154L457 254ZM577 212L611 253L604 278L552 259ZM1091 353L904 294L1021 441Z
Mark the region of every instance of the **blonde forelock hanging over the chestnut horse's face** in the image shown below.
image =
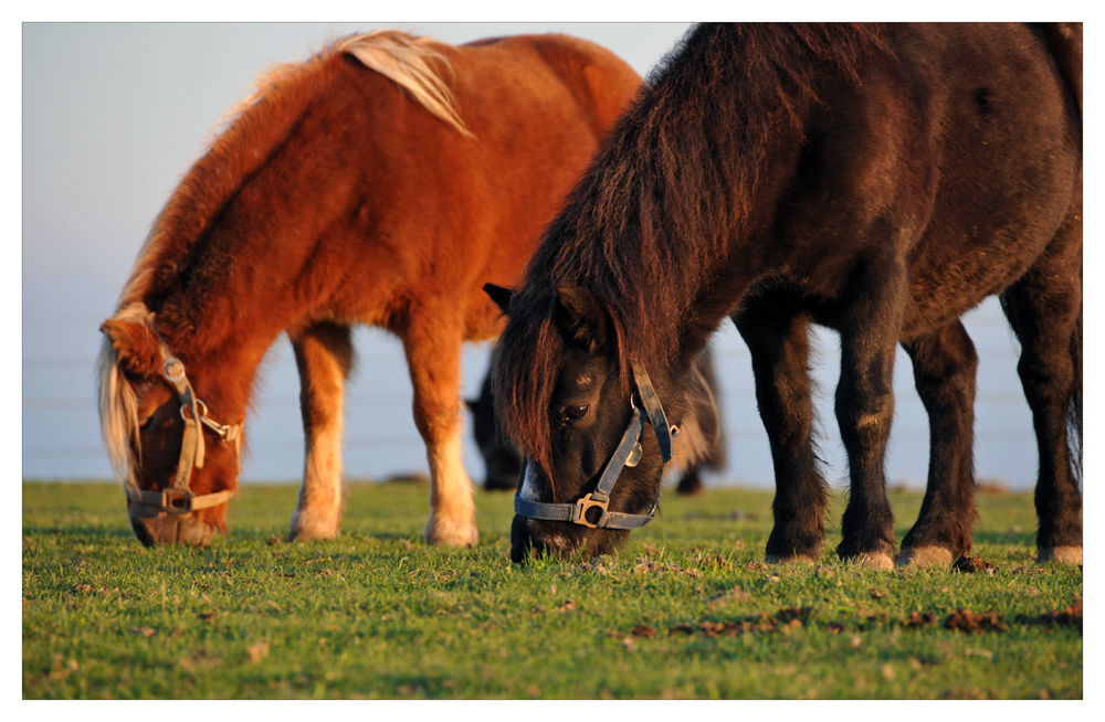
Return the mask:
M152 328L152 314L143 304L129 304L119 309L113 320L143 323ZM116 478L137 486L134 471L139 459L130 439L138 434L138 394L119 368L119 354L106 335L96 359L96 381L99 397L99 432Z

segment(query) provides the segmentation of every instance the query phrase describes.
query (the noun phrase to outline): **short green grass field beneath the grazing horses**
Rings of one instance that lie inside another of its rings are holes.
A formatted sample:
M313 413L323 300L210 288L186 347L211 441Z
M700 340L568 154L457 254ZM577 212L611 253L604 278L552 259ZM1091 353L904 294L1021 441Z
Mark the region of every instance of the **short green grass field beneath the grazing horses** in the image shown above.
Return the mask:
M617 558L518 567L509 495L478 495L481 544L457 551L421 542L427 492L350 485L340 539L286 544L296 489L249 486L228 538L146 550L117 487L24 484L23 697L1083 696L1081 606L1048 616L1082 570L1033 562L1029 495L979 497L988 575L854 569L835 529L820 564L766 566L753 490L670 493ZM901 540L920 495L892 502ZM960 608L1001 629L945 628Z

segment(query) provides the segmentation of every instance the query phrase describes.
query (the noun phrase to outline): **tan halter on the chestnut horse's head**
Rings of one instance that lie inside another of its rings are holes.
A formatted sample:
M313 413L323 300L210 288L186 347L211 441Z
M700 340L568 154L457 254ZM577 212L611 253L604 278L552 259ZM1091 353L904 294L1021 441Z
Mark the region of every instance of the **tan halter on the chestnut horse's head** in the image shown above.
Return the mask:
M177 476L173 478L171 487L160 491L137 489L129 484L123 487L124 491L127 498L136 503L156 507L171 514L187 514L200 509L218 507L234 496L234 492L224 489L212 493L196 495L188 488L192 478L192 469L203 468L203 456L207 447L200 424L213 431L223 442L235 443L240 443L242 425L223 426L209 418L207 404L196 397L192 384L185 373L185 364L170 353L164 342L161 343L161 355L165 358L161 375L176 390L177 397L180 399L180 417L185 420L185 435L180 442ZM186 408L188 413L185 413Z

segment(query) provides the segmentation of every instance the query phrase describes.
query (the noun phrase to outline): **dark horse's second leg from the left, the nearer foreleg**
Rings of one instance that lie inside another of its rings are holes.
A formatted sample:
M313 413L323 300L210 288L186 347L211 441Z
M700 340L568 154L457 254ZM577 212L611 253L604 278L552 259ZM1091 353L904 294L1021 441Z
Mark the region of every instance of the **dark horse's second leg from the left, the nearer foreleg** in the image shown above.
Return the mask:
M850 493L841 519L841 559L894 567L894 513L886 498L886 442L894 420L894 353L906 299L901 262L857 268L839 320L841 374L836 423L848 450Z

